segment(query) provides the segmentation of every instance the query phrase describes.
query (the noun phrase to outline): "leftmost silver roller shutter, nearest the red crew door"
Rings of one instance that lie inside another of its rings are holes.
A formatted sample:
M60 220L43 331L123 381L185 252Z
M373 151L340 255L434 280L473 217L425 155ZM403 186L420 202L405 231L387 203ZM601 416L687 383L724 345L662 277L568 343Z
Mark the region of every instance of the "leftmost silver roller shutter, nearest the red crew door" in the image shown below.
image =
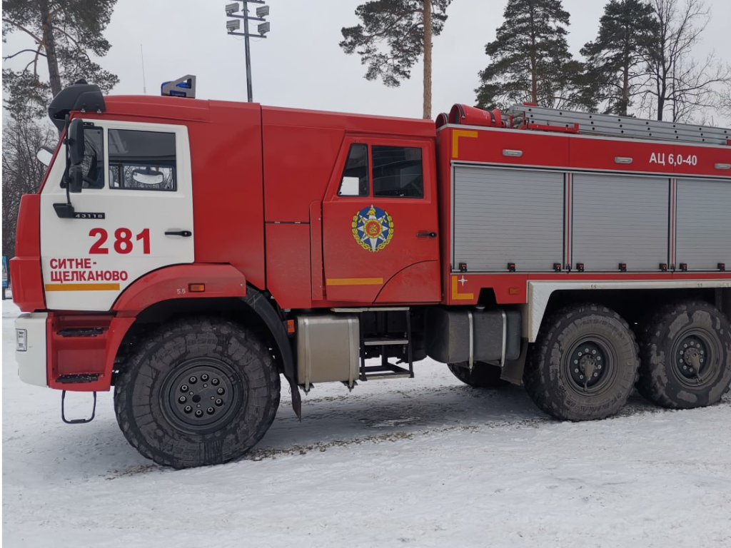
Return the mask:
M536 170L454 169L456 270L552 270L563 263L564 175Z

